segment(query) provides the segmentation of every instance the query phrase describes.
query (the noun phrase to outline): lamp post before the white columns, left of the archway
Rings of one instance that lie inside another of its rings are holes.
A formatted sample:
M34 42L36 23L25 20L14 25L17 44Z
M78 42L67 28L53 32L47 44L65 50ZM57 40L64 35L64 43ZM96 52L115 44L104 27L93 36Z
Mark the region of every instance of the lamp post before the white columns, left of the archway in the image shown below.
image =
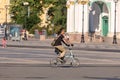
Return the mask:
M83 11L82 11L82 35L81 35L81 43L85 43L84 39L84 5L88 4L88 0L78 0L78 4L83 5Z

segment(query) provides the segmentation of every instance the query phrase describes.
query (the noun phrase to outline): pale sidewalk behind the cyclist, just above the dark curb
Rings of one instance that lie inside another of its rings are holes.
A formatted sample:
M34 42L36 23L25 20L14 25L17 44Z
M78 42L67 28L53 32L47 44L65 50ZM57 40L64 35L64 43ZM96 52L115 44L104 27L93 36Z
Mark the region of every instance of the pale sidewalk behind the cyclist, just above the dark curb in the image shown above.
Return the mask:
M1 40L0 40L1 41ZM51 41L50 39L40 41L37 39L30 39L28 41L7 41L7 46L8 47L25 47L25 48L53 48L51 46ZM1 46L0 42L0 46ZM73 49L120 49L120 44L113 45L111 43L74 43L74 48Z

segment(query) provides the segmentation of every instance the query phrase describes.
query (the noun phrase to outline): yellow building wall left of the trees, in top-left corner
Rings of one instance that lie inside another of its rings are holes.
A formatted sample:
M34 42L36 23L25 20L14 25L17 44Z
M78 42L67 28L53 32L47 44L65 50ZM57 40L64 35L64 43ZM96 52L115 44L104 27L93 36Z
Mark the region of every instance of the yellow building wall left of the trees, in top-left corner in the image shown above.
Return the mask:
M0 24L10 22L9 5L10 0L0 0Z

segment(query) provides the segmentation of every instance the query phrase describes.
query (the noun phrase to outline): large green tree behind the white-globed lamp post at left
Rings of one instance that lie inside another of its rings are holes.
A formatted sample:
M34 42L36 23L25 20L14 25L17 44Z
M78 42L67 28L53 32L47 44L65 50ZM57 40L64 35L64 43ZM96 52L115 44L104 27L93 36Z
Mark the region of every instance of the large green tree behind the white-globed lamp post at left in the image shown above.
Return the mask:
M28 2L29 5L23 5L24 2ZM34 25L40 23L40 11L42 5L39 0L11 0L10 14L13 16L12 22L16 24L22 24L26 29L30 30ZM29 14L29 16L28 16Z

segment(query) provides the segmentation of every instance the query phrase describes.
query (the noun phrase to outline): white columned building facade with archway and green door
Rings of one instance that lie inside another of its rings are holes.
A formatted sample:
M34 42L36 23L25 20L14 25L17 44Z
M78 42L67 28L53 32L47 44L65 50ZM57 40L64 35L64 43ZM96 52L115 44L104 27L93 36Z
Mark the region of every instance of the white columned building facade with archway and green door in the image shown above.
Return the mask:
M117 37L120 37L120 1L116 4L116 22L114 0L90 0L84 8L79 0L67 0L66 5L68 33L82 33L84 30L85 34L93 32L100 33L101 36L113 37L116 24Z

